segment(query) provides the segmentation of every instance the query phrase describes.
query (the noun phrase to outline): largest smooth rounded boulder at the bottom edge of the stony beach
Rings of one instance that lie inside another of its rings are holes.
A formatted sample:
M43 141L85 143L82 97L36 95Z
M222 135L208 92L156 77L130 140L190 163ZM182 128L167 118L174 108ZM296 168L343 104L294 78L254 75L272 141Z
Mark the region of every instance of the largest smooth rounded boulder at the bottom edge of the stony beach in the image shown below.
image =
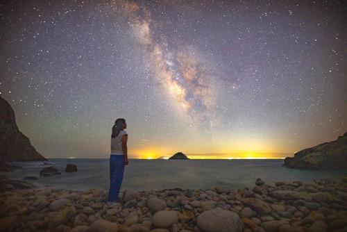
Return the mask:
M198 215L196 224L204 232L240 232L244 229L244 222L237 213L214 208Z

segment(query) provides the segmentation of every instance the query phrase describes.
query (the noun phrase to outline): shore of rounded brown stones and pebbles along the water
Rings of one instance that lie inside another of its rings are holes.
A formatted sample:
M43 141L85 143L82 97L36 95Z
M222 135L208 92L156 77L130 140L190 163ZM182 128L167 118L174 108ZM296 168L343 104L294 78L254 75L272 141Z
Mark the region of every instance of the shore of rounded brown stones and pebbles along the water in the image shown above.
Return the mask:
M121 192L12 189L0 194L0 231L347 231L347 178L227 190Z

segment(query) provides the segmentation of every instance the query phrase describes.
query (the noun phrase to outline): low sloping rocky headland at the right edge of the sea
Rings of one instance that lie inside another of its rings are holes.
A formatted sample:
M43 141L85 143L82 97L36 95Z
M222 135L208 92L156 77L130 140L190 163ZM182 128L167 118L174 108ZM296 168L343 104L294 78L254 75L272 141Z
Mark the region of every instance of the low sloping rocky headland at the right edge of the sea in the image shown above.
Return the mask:
M347 133L337 140L298 151L285 166L302 169L347 169Z

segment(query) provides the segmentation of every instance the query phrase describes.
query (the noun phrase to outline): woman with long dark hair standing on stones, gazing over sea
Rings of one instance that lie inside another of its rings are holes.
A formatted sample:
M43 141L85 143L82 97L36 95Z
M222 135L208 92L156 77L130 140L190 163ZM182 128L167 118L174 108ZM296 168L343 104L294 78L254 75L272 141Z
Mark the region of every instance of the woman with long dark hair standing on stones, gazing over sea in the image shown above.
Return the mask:
M123 181L124 165L128 165L128 134L126 131L126 120L119 118L112 127L111 156L110 156L110 192L108 201L117 201L121 182Z

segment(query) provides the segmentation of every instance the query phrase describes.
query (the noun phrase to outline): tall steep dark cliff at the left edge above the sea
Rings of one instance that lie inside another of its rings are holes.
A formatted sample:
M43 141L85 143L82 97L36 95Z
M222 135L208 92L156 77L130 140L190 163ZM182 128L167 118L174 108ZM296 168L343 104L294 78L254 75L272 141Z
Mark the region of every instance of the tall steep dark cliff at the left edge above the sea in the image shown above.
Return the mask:
M46 160L31 145L30 140L19 131L15 112L0 96L0 159L5 161Z

